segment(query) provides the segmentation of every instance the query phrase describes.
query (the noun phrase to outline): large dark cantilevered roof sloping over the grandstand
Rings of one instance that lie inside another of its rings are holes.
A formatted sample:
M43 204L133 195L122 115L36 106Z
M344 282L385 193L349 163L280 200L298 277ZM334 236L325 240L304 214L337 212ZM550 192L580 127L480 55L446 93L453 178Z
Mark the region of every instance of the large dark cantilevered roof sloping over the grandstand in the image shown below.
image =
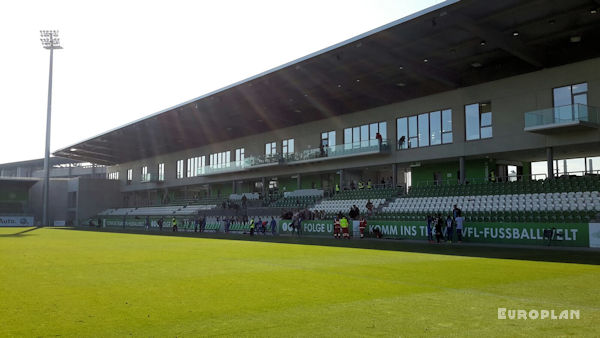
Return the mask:
M600 0L449 0L54 153L117 164L600 56Z

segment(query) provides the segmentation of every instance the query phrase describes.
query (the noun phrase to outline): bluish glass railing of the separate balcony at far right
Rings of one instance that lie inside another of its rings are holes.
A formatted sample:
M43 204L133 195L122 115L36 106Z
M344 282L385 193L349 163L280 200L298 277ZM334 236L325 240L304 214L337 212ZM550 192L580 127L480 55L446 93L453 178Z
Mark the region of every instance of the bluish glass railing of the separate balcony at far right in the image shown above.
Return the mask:
M541 127L550 124L564 124L577 121L598 123L597 107L573 104L534 110L525 113L525 128Z

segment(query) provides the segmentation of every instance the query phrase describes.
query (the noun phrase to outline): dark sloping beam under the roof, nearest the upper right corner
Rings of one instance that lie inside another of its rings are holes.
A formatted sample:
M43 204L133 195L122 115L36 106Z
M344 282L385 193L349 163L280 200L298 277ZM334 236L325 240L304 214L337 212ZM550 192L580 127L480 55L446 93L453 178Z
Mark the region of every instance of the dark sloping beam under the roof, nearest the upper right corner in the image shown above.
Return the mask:
M457 20L457 26L461 27L485 40L486 42L497 45L500 49L518 57L519 59L533 65L537 68L544 68L544 63L527 46L515 39L508 39L499 31L483 27L475 23L475 20L462 14L454 14Z

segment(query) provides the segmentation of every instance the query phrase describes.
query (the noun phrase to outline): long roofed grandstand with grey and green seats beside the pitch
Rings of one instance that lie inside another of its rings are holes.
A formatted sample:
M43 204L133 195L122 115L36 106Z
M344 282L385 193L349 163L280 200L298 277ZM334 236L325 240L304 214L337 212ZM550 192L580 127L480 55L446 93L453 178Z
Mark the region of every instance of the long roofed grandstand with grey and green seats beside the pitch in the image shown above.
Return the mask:
M597 6L445 1L54 155L105 166L105 226L277 217L286 233L300 213L329 236L356 206L371 230L425 239L456 205L466 240L558 228L597 245Z

